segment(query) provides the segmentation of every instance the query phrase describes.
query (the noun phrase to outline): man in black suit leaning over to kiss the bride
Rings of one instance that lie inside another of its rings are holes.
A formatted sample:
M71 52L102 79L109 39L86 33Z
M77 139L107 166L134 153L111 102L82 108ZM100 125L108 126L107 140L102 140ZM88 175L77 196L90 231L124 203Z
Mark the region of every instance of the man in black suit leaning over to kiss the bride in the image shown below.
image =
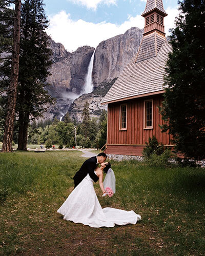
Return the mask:
M105 153L99 153L97 156L93 156L86 160L83 165L80 167L79 171L77 171L73 177L74 180L74 188L83 181L85 176L89 173L90 178L94 181L98 181L98 176L94 173L95 168L98 164L102 164L106 161L107 155Z

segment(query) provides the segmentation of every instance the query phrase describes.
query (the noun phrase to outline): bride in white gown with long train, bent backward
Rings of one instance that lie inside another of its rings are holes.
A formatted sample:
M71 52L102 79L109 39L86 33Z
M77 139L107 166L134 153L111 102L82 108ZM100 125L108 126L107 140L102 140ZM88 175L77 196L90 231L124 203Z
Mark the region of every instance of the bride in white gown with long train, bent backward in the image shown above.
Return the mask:
M106 193L103 185L103 171L107 173L110 167L110 163L105 163L104 166L95 169L95 174L99 178L99 186L103 193ZM70 193L57 212L64 215L64 220L83 223L93 228L114 227L115 224L136 224L137 221L141 220L141 216L134 211L119 210L111 207L102 209L93 187L93 180L89 174Z

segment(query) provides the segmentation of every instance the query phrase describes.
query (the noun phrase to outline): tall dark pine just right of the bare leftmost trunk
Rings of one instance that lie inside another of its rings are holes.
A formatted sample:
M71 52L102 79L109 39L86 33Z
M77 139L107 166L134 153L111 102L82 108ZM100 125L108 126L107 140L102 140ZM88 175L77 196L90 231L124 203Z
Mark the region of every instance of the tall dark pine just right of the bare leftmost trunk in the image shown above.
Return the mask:
M31 116L42 116L51 103L44 89L51 65L49 37L45 32L48 21L43 0L26 0L22 6L19 89L17 110L19 117L18 150L27 150L27 132Z

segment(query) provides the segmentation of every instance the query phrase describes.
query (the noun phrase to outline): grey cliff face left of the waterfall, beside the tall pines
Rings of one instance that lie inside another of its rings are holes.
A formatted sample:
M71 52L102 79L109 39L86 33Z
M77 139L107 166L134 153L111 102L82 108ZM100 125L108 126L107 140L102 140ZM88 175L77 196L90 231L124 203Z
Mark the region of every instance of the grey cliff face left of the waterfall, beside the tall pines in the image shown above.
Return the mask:
M54 63L49 70L51 75L47 82L50 86L47 89L57 99L73 99L73 94L79 95L83 91L88 65L95 49L83 46L70 53L63 45L51 42Z

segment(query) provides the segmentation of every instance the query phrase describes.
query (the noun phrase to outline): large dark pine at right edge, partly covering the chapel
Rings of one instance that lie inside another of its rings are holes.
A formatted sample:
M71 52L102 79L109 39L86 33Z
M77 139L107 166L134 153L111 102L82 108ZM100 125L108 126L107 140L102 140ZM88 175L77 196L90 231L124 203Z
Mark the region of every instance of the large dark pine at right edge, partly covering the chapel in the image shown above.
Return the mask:
M174 136L176 150L185 157L205 159L205 3L179 2L181 14L172 29L161 110L163 126Z

